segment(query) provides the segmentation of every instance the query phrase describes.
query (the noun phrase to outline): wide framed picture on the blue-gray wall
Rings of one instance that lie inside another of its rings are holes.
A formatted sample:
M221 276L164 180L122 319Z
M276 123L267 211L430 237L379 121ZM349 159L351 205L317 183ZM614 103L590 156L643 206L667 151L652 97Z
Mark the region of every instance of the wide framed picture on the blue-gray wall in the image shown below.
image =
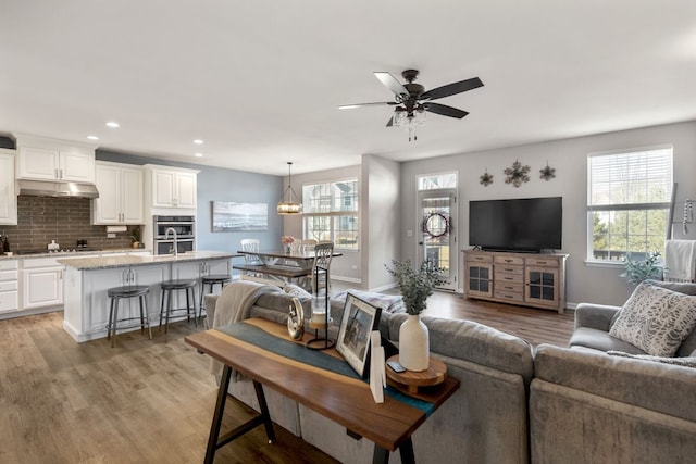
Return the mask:
M213 231L257 231L269 229L268 203L213 201Z

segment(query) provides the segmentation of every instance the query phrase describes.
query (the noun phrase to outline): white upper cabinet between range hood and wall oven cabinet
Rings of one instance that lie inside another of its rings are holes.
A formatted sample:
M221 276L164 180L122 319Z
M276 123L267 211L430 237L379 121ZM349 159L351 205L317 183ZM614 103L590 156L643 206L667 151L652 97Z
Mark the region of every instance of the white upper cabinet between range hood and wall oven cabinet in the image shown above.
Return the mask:
M144 224L142 183L140 166L98 161L92 224Z

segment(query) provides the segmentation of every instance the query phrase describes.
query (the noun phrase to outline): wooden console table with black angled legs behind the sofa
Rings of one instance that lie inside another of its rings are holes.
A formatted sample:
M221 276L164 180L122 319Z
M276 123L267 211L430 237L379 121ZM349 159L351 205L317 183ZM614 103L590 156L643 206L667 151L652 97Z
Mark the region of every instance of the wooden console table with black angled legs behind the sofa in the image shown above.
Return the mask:
M247 322L253 322L253 319ZM397 449L401 454L401 462L414 462L411 435L426 419L422 409L407 404L389 394L385 394L384 403L377 404L372 398L370 385L362 379L276 354L222 331L236 324L221 327L220 330L197 333L185 338L185 341L199 352L209 354L224 364L208 440L206 463L213 462L219 448L260 425L265 426L269 440L275 439L263 394L264 386L345 426L350 435L364 437L374 442L373 462L388 462L389 452ZM268 324L282 328L281 325L269 322L260 325ZM272 333L283 338L283 330L273 328ZM291 341L287 331L284 338ZM301 348L306 350L304 347ZM326 353L323 354L326 356L337 355L331 351L335 350L326 350L322 353ZM318 352L313 351L313 353ZM222 416L233 369L253 381L261 413L247 424L221 436ZM459 380L447 377L436 391L420 397L435 410L458 388Z

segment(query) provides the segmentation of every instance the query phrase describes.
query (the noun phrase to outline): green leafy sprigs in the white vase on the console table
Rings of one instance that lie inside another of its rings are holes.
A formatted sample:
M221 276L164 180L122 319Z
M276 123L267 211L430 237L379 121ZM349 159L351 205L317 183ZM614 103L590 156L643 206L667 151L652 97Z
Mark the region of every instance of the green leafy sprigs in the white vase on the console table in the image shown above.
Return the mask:
M435 287L445 283L440 278L443 269L432 266L427 261L423 261L418 269L411 260L391 260L391 267L386 264L384 267L399 283L406 312L411 315L421 314L425 310L427 297L433 294Z

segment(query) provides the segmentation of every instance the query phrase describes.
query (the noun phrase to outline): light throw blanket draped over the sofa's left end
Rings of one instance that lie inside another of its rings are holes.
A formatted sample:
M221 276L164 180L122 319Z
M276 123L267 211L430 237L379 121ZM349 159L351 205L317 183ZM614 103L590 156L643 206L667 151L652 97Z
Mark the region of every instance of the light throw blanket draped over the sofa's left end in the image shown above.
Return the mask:
M253 306L259 297L277 291L283 290L273 285L264 285L251 280L238 280L225 286L215 303L212 328L223 327L248 318L251 306ZM214 359L210 361L210 372L215 374L217 384L220 384L222 363ZM233 381L238 379L239 376L234 373Z

